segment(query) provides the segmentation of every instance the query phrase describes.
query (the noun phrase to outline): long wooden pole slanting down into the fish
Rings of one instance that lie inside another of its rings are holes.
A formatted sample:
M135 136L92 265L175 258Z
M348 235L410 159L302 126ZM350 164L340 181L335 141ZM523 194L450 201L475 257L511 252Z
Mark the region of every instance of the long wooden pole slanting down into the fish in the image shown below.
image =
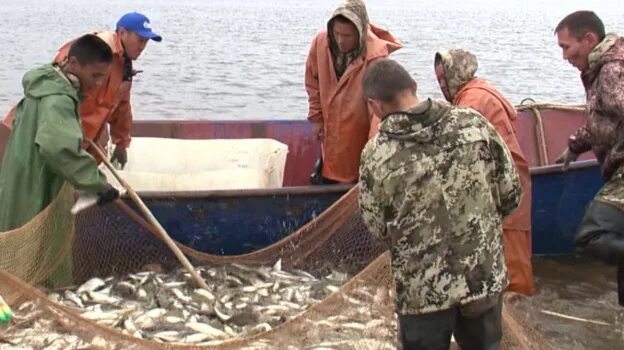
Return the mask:
M147 221L149 221L149 223L152 224L156 228L156 231L158 232L158 234L160 234L160 238L167 244L167 246L169 246L169 249L171 249L171 251L173 252L173 254L175 254L175 256L178 258L180 263L182 263L182 266L184 266L188 270L188 272L193 277L193 280L195 280L195 283L197 283L197 285L200 288L204 288L208 290L209 288L206 282L201 278L199 273L197 273L197 270L195 270L193 265L191 265L190 261L188 261L186 256L182 253L182 251L180 251L180 248L178 248L178 246L175 244L173 239L169 237L169 235L167 234L167 231L165 231L165 229L160 225L158 220L156 220L152 212L147 208L145 203L143 203L139 195L119 175L119 173L117 172L117 169L115 169L115 167L113 167L113 165L108 161L108 158L106 157L104 152L100 149L100 147L91 140L89 140L89 142L91 143L91 147L93 147L96 153L100 156L100 158L102 158L102 161L104 162L108 170L110 170L110 172L113 174L113 176L115 176L117 181L119 181L119 183L126 189L126 191L128 191L130 198L132 198L132 200L137 204L137 206L139 207L143 215L145 215L145 217L147 218Z

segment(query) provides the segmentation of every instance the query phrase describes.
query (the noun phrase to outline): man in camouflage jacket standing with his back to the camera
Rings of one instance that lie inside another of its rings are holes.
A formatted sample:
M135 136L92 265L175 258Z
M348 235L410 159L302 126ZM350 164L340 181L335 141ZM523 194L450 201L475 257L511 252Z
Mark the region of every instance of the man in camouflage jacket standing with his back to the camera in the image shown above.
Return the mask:
M391 251L405 349L497 349L507 285L502 219L520 201L511 154L478 112L416 97L395 61L364 75L364 97L384 116L364 148L360 207ZM398 111L398 112L397 112Z

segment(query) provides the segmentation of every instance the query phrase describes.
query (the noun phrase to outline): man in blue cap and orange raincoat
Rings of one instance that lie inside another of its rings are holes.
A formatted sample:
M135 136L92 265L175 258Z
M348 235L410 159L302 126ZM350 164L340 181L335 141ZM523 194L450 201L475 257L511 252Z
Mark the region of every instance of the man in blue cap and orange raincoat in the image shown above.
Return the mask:
M132 127L132 108L130 106L130 88L132 78L137 73L132 67L132 61L139 58L151 39L157 42L162 37L152 31L150 20L143 14L130 12L117 21L114 32L97 32L113 50L113 64L111 73L104 84L85 96L80 103L80 123L85 143L88 140L96 141L104 130L105 123L110 124L110 135L115 150L111 161L118 161L123 167L127 160L126 149L130 146ZM69 48L74 41L63 45L54 62L63 65L67 61ZM15 107L9 111L4 124L11 128ZM95 159L101 159L95 152L90 152Z

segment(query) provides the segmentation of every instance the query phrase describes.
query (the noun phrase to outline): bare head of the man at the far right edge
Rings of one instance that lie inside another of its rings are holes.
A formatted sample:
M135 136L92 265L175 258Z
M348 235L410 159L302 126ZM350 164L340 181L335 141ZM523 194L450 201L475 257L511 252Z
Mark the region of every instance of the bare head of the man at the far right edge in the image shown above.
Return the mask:
M604 24L592 11L567 15L555 28L563 59L581 72L589 67L589 53L605 37Z

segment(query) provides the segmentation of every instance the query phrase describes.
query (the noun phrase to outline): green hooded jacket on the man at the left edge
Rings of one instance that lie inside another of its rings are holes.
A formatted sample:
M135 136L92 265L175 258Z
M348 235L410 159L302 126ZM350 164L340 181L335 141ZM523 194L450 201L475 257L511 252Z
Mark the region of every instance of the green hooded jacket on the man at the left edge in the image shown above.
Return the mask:
M80 147L78 90L49 64L26 73L22 86L0 168L0 232L32 219L65 181L81 191L106 189L95 159Z

